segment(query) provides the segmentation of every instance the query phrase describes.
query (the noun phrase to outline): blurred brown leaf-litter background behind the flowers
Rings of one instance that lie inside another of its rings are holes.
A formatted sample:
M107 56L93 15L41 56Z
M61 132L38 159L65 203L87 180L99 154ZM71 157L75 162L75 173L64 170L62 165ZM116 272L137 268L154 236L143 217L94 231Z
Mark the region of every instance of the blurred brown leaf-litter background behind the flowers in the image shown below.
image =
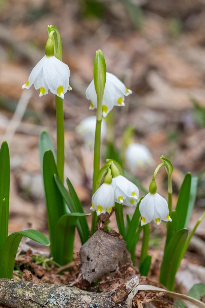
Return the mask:
M156 165L161 154L170 159L175 203L184 174L205 168L205 2L1 0L0 138L8 141L11 156L10 232L30 224L47 234L38 137L46 128L55 144L54 95L39 98L33 86L21 89L44 55L47 24L60 30L63 62L71 71L73 91L64 99L65 176L85 211L92 196L85 169L92 164L75 127L95 114L85 90L97 49L104 53L107 71L133 91L125 107L114 107L116 146L131 124L134 140L149 148ZM154 167L135 174L147 189ZM165 171L157 181L166 196ZM202 176L192 226L204 210L204 187ZM204 237L203 226L198 235Z

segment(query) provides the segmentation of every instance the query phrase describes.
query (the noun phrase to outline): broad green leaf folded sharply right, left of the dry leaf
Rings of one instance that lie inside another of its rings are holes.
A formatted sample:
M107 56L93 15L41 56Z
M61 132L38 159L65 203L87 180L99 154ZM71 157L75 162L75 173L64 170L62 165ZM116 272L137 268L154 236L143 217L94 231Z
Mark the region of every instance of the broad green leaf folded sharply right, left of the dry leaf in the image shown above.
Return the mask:
M55 261L60 265L65 265L73 260L73 243L75 237L75 227L77 220L88 216L86 213L68 213L57 221L54 245Z

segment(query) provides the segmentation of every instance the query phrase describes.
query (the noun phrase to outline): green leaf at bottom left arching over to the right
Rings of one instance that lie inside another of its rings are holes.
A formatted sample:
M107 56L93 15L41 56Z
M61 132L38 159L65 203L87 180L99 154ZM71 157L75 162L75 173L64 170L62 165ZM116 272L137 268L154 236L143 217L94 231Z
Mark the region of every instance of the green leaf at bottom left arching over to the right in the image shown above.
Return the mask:
M50 241L44 234L37 230L18 231L10 234L0 253L0 277L12 279L15 257L18 245L23 236L29 237L31 240L36 241L42 245L49 246Z

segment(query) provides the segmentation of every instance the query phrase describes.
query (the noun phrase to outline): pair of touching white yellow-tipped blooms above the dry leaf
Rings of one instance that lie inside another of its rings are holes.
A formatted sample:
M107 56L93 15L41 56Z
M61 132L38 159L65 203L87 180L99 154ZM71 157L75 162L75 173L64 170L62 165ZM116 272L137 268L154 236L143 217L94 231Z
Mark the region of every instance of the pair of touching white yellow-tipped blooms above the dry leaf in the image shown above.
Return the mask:
M124 176L118 175L112 178L110 184L104 183L97 189L93 194L90 209L97 211L97 216L99 216L101 213L111 213L115 202L136 206L138 200L138 187Z

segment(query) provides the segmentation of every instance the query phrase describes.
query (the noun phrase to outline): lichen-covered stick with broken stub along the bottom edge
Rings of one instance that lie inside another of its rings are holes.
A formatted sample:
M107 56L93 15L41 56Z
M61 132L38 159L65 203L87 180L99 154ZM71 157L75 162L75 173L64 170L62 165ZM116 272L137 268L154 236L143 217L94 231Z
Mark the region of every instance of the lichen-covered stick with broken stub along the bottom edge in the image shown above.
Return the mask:
M125 300L138 284L135 277L114 293L92 293L73 286L0 278L0 304L9 308L128 308Z

